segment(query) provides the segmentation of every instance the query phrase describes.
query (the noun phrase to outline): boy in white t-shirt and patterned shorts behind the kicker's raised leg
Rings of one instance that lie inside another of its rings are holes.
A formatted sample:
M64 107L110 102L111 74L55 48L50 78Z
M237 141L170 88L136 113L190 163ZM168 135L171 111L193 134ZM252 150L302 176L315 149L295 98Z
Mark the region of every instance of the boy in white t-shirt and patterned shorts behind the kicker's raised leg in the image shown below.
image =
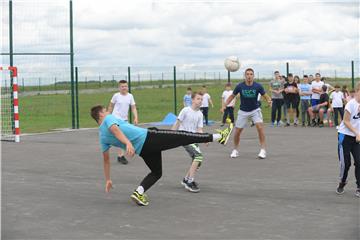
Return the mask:
M203 101L202 93L193 92L191 100L191 107L184 107L180 111L175 124L171 128L172 130L203 132L203 114L200 111L201 102ZM184 148L189 153L192 163L181 184L190 192L199 192L199 186L195 182L195 173L202 163L203 155L197 143L186 145Z

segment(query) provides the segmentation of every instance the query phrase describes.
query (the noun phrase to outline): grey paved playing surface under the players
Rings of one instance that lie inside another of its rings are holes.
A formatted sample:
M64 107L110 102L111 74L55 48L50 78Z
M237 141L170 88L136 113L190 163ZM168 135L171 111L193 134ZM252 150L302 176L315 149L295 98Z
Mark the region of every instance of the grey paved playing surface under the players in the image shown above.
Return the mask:
M201 146L195 194L180 185L185 150L164 152L147 207L129 200L148 172L139 157L128 165L113 159L115 189L105 195L96 130L3 142L2 239L359 239L353 166L345 194L335 194L335 129L266 134L266 160L256 158L255 128L245 129L237 159L228 157L232 142Z

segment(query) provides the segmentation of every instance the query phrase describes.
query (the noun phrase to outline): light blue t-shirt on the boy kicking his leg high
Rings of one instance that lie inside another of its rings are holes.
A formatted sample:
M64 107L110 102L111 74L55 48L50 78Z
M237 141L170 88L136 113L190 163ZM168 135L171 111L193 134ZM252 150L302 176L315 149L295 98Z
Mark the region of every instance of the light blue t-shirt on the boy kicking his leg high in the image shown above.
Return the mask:
M114 124L119 126L119 129L132 143L136 154L140 154L147 136L147 129L136 127L129 124L127 121L117 119L112 114L107 115L99 127L99 141L102 151L107 151L111 146L126 150L125 145L120 142L109 130L109 128Z

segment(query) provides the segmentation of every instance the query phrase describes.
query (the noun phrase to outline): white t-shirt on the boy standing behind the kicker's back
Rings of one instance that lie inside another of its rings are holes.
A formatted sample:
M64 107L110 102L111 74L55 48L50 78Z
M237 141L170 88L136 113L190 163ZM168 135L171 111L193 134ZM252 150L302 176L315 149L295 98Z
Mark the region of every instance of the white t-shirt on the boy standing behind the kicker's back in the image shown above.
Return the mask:
M131 93L122 95L115 93L111 98L111 103L114 104L112 114L121 120L128 120L129 107L135 105L134 97Z

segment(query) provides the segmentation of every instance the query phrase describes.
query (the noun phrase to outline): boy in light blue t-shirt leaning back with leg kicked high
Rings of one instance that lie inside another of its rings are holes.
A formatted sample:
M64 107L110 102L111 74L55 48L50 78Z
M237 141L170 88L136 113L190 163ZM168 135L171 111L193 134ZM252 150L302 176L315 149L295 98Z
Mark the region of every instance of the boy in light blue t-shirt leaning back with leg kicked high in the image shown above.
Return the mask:
M138 154L150 168L150 173L130 196L134 202L142 206L149 204L145 192L162 176L162 151L192 143L218 141L220 144L225 144L231 134L229 128L217 134L140 128L115 118L101 105L92 107L90 114L99 125L99 139L104 159L105 192L110 192L112 188L109 151L111 146L124 149L129 156Z

